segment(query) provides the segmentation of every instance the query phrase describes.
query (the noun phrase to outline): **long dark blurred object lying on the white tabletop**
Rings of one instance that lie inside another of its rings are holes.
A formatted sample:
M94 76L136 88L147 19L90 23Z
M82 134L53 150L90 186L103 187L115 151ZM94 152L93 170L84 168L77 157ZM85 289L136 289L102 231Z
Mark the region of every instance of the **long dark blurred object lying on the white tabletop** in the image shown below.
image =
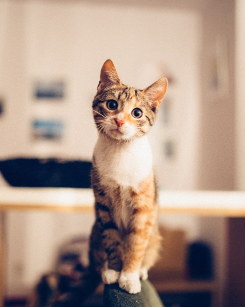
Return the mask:
M87 161L16 158L0 161L0 172L13 187L90 188Z

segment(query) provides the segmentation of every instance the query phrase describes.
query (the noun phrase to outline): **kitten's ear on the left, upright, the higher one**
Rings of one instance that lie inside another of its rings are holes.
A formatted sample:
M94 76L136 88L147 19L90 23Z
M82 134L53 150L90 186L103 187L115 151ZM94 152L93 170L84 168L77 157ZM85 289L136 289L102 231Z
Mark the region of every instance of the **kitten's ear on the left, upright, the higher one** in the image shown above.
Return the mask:
M121 85L121 80L115 69L114 63L108 59L103 63L101 68L97 91L100 92L105 87L113 85Z

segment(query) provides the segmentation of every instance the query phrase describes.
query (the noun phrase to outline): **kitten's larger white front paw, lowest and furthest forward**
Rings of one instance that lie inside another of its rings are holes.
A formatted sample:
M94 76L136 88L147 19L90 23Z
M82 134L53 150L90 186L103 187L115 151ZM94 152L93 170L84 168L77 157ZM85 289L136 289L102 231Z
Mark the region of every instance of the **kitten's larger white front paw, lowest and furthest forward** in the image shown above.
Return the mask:
M118 284L122 290L125 290L131 294L138 293L141 290L141 284L139 281L138 272L134 273L121 272Z

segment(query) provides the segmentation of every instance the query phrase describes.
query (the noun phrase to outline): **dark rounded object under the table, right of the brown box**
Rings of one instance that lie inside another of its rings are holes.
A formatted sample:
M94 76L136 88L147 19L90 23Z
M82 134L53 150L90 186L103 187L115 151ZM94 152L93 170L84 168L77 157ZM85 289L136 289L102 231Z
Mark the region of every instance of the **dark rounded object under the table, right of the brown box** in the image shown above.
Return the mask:
M187 262L189 278L198 280L212 278L212 253L205 243L194 242L189 246Z

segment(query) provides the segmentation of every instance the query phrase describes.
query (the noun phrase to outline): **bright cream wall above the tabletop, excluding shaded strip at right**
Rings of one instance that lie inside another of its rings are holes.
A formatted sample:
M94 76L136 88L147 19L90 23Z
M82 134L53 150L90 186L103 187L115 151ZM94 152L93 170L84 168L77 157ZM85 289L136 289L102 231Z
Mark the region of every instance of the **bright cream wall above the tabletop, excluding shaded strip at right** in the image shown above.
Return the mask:
M3 71L7 73L2 95L6 114L0 120L1 157L90 160L96 140L91 101L102 63L111 58L122 81L138 88L163 74L173 77L167 93L171 122L164 127L159 112L158 125L150 135L156 172L164 188L195 188L200 104L198 14L63 1L10 1L5 13ZM35 101L33 83L53 78L66 82L63 101ZM30 124L35 118L63 120L63 140L31 141ZM7 139L6 131L12 131ZM169 138L175 149L171 159L163 154Z

